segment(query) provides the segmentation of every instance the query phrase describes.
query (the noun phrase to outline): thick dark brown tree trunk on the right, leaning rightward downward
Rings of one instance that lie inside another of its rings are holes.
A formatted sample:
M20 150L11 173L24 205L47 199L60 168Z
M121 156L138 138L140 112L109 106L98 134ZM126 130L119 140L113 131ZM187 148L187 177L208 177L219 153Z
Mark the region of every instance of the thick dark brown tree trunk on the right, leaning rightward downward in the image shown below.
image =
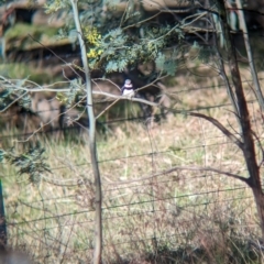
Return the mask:
M262 191L260 178L260 167L256 162L255 145L250 122L250 113L248 110L248 103L244 97L243 86L241 82L235 47L227 22L224 0L218 0L218 4L220 19L222 19L223 22L224 28L223 31L228 51L228 63L231 70L232 80L234 84L234 95L237 97L238 110L240 114L239 121L242 130L241 136L243 141L243 155L250 175L249 186L251 187L252 193L254 195L257 213L260 218L260 224L262 229L262 239L264 241L264 195Z

